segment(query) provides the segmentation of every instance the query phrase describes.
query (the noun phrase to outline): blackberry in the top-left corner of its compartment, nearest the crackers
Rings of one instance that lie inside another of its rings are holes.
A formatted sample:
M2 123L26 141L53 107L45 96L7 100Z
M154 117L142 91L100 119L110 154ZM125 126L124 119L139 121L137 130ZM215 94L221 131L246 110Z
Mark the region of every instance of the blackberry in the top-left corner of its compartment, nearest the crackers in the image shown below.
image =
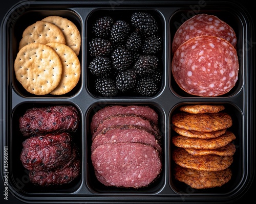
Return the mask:
M92 33L96 37L107 38L110 35L114 20L110 16L103 16L97 19L92 25Z

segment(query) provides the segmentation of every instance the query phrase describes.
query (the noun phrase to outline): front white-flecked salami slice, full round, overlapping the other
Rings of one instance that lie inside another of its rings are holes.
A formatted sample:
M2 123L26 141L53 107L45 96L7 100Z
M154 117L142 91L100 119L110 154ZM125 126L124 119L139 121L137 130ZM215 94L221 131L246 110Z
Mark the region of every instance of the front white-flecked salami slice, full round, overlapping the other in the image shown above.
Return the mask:
M172 73L185 92L197 96L219 96L238 80L236 49L223 38L198 36L184 42L175 52Z

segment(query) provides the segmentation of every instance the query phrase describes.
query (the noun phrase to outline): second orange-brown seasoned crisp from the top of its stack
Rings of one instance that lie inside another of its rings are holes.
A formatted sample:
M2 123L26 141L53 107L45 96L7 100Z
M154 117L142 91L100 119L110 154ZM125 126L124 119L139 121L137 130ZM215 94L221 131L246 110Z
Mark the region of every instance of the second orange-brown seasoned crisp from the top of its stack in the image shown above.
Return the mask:
M175 126L189 131L212 132L227 129L232 125L229 114L219 113L177 113L172 122Z

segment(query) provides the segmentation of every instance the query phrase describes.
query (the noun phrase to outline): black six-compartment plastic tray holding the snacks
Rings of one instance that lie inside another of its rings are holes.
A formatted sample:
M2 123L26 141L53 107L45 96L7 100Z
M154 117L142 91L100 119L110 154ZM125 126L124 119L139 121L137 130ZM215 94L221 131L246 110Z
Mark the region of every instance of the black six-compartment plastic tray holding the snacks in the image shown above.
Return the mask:
M135 11L145 11L157 20L163 46L159 58L162 82L154 96L117 95L102 97L96 93L88 66L91 61L89 41L92 39L92 23L99 17L110 15L114 19L130 20ZM225 95L217 97L193 96L182 91L176 84L171 71L171 44L178 27L188 18L207 13L216 15L228 23L237 35L239 76L236 85ZM78 55L81 77L76 87L65 95L33 95L28 93L16 80L13 69L18 53L18 44L23 31L37 20L58 15L75 23L81 34L81 48ZM49 1L21 2L6 14L1 27L1 142L8 147L8 188L17 200L28 203L82 203L82 202L229 202L238 199L252 182L253 137L253 48L251 19L243 7L232 2L128 2L128 1ZM193 189L178 182L173 175L172 115L183 105L210 104L224 105L225 112L232 118L229 130L236 135L233 143L231 180L222 187ZM18 118L28 108L53 105L72 105L79 110L80 124L73 136L79 147L81 173L70 184L40 187L31 184L28 171L19 160L25 137L19 131ZM146 105L159 116L162 134L162 172L158 179L145 188L106 187L95 177L91 162L90 122L93 114L107 105ZM4 152L1 152L1 160ZM1 162L3 165L3 163ZM1 175L4 175L3 166Z

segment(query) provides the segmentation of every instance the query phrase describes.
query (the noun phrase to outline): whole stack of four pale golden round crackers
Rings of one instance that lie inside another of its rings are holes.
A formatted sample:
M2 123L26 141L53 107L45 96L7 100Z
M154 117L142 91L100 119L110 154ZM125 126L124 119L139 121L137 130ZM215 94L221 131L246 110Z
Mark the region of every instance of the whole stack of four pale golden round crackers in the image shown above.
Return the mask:
M48 16L36 21L19 42L16 79L35 95L70 92L80 79L80 45L80 33L67 18Z

